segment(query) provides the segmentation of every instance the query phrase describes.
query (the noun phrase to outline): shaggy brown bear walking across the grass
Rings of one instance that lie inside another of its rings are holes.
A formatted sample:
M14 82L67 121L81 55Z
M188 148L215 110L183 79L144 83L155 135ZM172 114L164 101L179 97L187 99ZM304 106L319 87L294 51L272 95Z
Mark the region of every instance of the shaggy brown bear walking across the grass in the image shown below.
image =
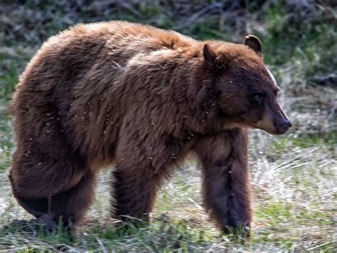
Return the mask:
M47 224L77 224L100 168L114 165L114 217L144 218L192 152L211 217L225 232L250 226L246 129L288 130L278 90L255 36L240 45L123 21L73 26L16 86L14 197Z

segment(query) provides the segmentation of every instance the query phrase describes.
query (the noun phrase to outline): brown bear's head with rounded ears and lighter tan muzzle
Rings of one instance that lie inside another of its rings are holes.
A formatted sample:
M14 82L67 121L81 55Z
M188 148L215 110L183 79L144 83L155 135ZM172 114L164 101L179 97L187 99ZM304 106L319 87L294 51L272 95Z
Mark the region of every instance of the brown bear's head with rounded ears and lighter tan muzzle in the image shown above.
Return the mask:
M243 45L208 41L203 58L208 83L218 91L219 113L229 118L228 128L287 132L291 122L277 102L279 87L264 66L259 38L246 36Z

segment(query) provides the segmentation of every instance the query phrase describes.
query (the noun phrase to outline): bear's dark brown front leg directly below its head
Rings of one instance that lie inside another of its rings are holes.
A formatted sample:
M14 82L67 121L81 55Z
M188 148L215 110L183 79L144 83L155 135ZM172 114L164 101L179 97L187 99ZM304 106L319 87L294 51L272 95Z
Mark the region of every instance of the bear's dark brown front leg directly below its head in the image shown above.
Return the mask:
M196 145L203 167L205 207L225 233L247 231L252 222L250 173L247 167L247 133L225 131Z

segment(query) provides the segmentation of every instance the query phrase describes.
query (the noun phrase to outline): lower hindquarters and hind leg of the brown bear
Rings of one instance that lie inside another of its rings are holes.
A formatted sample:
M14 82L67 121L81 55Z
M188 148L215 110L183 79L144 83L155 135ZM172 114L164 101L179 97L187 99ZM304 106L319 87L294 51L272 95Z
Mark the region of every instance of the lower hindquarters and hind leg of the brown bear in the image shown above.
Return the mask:
M70 150L60 150L58 156L31 148L21 148L13 155L9 171L12 192L26 211L55 225L62 217L65 226L80 221L92 201L95 175L86 162Z

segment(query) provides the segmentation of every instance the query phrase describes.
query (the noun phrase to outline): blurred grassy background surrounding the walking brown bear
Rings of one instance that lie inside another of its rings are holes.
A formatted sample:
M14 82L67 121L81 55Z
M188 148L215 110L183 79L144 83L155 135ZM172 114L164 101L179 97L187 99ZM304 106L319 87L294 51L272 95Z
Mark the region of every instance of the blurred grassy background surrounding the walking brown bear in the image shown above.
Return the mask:
M196 39L257 35L294 123L287 135L250 133L255 224L250 240L221 236L203 212L200 171L188 162L159 193L152 224L115 232L109 170L75 241L18 220L6 174L15 148L7 105L18 76L49 36L77 23L127 20ZM324 250L337 239L337 1L0 0L0 249ZM16 222L13 222L16 220ZM56 236L55 236L56 235Z

